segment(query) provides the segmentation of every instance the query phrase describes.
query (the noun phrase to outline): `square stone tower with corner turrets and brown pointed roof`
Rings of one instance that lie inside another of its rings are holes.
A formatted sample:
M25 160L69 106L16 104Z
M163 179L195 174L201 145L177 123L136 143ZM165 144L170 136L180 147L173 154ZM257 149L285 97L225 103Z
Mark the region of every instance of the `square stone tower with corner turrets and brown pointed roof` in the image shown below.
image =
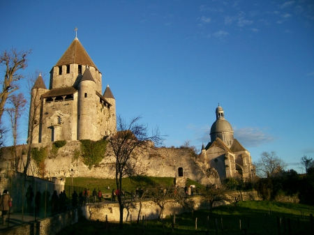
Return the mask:
M116 131L116 104L102 74L75 38L50 71L46 88L38 76L31 90L29 138L33 143L98 140Z

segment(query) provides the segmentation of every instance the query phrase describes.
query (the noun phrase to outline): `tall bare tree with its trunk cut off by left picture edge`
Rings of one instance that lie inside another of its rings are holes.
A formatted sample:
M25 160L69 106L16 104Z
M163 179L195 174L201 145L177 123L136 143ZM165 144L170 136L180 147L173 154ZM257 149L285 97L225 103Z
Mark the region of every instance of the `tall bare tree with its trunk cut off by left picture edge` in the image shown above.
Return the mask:
M31 50L20 51L12 49L10 51L4 50L0 55L1 67L4 70L3 80L0 84L2 90L0 93L0 123L4 112L4 106L9 98L10 94L20 88L18 81L24 76L19 73L19 70L24 70L27 67L27 56L31 53Z

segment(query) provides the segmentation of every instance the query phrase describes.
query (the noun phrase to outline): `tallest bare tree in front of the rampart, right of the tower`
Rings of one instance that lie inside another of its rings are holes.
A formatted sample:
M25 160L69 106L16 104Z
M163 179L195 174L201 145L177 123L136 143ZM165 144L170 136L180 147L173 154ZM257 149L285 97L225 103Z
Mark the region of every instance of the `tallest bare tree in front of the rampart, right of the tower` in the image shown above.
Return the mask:
M140 116L135 117L126 123L121 116L117 116L117 132L110 137L109 142L112 146L114 156L116 157L116 184L119 192L122 190L122 178L132 174L133 169L129 163L131 155L135 149L147 146L158 146L163 143L163 137L158 128L153 130L151 136L148 135L147 125L137 123ZM119 227L123 227L124 204L121 199L121 193L118 194L120 209Z

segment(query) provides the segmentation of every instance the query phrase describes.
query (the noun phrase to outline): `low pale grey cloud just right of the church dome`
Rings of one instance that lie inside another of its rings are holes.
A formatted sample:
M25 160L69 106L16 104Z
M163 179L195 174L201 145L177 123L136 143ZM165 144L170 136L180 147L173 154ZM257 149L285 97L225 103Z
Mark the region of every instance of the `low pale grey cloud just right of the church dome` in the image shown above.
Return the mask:
M260 146L275 140L274 137L260 128L234 128L234 138L239 140L244 148Z

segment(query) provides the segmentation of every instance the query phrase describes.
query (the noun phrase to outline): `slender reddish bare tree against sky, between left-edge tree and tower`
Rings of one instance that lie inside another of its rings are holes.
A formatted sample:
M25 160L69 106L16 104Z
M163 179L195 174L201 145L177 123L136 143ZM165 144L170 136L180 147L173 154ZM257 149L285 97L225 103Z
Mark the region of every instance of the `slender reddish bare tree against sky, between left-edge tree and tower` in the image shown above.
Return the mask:
M17 156L17 151L16 151L16 145L17 141L19 139L19 133L17 132L18 126L19 126L19 119L22 116L24 110L25 110L25 105L27 103L27 100L24 99L23 93L19 93L17 96L13 94L8 98L10 105L12 107L7 109L7 112L10 116L10 123L11 123L11 128L12 128L12 135L13 135L13 154L14 154L14 167L15 171L17 172L19 162L20 162L20 156Z

